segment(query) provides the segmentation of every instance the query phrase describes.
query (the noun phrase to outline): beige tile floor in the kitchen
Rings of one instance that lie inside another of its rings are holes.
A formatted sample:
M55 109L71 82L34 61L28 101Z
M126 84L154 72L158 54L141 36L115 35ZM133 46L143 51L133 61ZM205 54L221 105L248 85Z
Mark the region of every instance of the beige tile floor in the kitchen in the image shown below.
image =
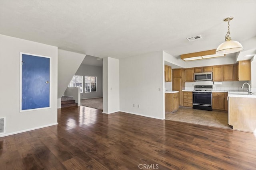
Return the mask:
M180 107L174 113L165 113L165 119L231 129L228 125L228 113L221 111L206 111Z

